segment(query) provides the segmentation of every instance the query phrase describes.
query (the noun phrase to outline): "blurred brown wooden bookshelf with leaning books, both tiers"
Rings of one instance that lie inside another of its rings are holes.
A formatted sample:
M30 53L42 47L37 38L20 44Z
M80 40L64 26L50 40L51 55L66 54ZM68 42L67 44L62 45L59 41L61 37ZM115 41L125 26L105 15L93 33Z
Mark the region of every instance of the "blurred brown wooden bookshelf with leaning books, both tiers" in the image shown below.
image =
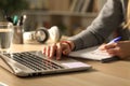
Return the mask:
M99 4L102 1L106 0L46 0L48 4L46 11L43 9L23 11L28 17L26 29L57 26L63 33L74 35L86 29L98 16Z

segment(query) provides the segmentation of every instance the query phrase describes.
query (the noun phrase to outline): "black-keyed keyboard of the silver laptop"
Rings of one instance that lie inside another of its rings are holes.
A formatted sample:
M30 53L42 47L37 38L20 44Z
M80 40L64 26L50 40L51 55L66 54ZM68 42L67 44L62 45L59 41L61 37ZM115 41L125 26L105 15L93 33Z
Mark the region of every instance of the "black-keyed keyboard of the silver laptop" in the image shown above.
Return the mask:
M64 67L60 66L58 63L55 63L50 59L41 58L29 52L4 55L34 71L64 69Z

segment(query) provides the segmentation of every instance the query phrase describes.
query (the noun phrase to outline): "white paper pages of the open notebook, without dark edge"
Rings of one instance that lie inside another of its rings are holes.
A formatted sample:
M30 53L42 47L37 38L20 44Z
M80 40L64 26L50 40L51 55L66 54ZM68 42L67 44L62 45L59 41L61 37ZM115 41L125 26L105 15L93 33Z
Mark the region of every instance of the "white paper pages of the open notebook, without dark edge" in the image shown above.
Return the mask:
M94 46L94 47L90 47L90 48L72 52L68 56L86 58L86 59L93 59L93 60L102 60L105 58L112 58L110 55L108 55L105 52L99 51L98 47L99 46Z

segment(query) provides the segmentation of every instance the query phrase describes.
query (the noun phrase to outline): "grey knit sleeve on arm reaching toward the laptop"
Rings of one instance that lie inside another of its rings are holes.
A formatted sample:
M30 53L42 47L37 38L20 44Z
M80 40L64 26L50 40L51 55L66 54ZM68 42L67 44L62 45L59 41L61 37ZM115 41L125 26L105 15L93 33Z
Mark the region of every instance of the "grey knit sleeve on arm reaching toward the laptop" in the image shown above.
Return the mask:
M122 23L122 19L123 15L120 0L107 0L92 24L86 30L68 39L75 44L74 51L103 43Z

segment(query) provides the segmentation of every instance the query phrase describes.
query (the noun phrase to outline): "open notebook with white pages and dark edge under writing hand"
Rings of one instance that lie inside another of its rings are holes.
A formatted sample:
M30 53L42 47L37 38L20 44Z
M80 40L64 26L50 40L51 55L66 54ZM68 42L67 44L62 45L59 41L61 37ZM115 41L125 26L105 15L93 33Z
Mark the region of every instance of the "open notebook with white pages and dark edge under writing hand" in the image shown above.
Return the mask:
M93 47L72 52L68 56L99 60L101 62L110 62L110 61L119 60L119 57L110 56L106 52L98 49L98 47L99 46L93 46Z

